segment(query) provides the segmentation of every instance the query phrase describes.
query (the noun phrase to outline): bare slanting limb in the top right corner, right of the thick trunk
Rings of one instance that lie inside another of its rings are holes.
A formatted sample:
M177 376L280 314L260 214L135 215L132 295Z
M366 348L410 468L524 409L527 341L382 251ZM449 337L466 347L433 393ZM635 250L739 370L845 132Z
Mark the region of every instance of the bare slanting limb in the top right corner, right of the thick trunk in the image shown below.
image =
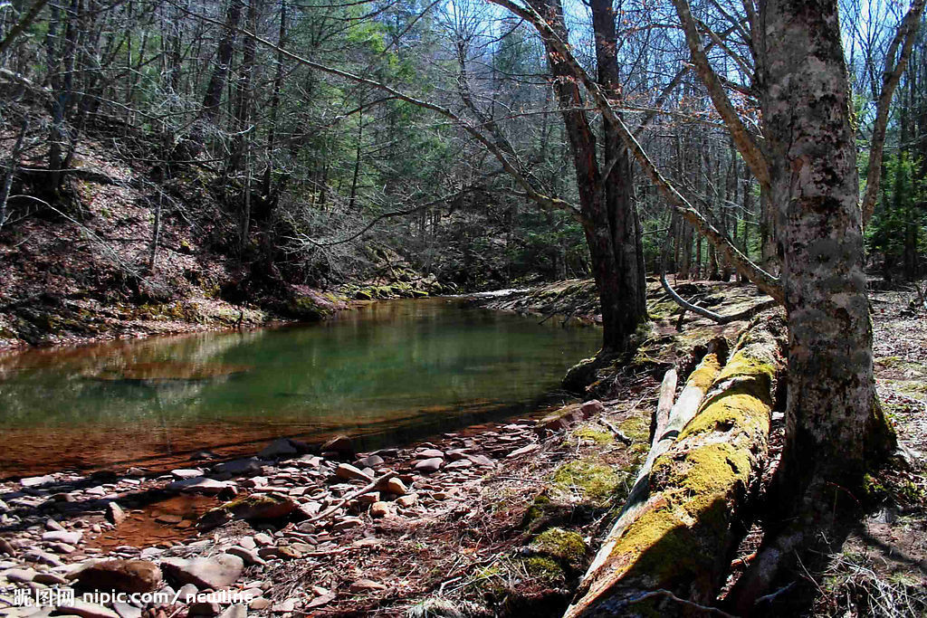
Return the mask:
M921 15L927 0L914 0L908 9L905 19L901 20L895 38L885 54L885 67L882 71L882 93L879 95L879 105L876 108L875 123L872 126L872 140L870 142L869 170L866 174L866 193L863 195L863 225L869 223L872 212L875 210L876 200L879 199L879 185L882 183L882 154L885 147L885 132L888 128L888 113L892 106L892 97L895 88L901 81L901 74L908 66L911 57L911 48L917 39L921 27ZM895 61L898 46L901 46L901 55Z

